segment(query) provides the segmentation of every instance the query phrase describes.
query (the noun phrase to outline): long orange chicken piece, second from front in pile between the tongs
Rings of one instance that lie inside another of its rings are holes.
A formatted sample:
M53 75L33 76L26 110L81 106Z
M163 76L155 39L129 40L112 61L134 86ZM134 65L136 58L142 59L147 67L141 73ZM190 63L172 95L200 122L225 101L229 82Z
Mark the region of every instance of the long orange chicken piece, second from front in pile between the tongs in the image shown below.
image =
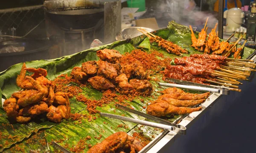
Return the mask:
M200 100L178 100L174 98L160 98L154 101L152 104L155 103L168 103L176 107L193 107L197 104L201 104L205 101L205 99L200 99Z

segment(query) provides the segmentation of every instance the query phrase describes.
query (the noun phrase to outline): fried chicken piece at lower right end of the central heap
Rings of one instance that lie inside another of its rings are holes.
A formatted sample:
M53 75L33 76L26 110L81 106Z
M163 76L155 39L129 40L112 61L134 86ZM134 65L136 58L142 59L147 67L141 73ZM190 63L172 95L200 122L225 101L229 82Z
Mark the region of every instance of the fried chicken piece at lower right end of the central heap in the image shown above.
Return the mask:
M131 79L130 84L137 92L143 92L144 94L150 94L153 86L147 80Z

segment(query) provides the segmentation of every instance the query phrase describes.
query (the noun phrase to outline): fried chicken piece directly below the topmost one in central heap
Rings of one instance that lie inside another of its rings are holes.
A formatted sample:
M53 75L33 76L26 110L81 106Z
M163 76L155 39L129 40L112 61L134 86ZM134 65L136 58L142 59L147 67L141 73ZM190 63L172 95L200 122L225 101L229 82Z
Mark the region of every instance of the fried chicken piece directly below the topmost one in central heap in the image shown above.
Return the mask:
M97 64L99 66L98 75L103 75L111 80L118 76L117 70L113 66L114 64L108 63L107 61L98 61Z

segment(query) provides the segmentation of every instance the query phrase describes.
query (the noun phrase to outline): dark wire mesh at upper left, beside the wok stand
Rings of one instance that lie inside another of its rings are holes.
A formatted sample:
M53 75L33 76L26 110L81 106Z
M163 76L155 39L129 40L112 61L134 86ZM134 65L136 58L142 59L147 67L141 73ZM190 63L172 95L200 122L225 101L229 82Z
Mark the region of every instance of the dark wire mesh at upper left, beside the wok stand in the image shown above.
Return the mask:
M44 38L46 30L43 21L44 9L42 9L41 5L1 9L0 36L23 37L29 33L26 38ZM7 38L3 37L2 39Z

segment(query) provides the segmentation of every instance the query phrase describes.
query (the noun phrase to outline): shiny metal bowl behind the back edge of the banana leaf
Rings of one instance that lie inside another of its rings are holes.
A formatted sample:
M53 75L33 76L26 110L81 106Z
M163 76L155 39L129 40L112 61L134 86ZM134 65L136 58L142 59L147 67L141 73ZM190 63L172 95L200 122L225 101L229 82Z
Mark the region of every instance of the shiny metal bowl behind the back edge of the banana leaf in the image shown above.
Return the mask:
M131 26L128 28L122 29L117 35L116 40L125 40L127 38L134 38L140 35L143 35L141 32L139 32L137 29L145 29L148 32L153 32L155 29L151 28L145 28L145 27L139 27L139 26Z

